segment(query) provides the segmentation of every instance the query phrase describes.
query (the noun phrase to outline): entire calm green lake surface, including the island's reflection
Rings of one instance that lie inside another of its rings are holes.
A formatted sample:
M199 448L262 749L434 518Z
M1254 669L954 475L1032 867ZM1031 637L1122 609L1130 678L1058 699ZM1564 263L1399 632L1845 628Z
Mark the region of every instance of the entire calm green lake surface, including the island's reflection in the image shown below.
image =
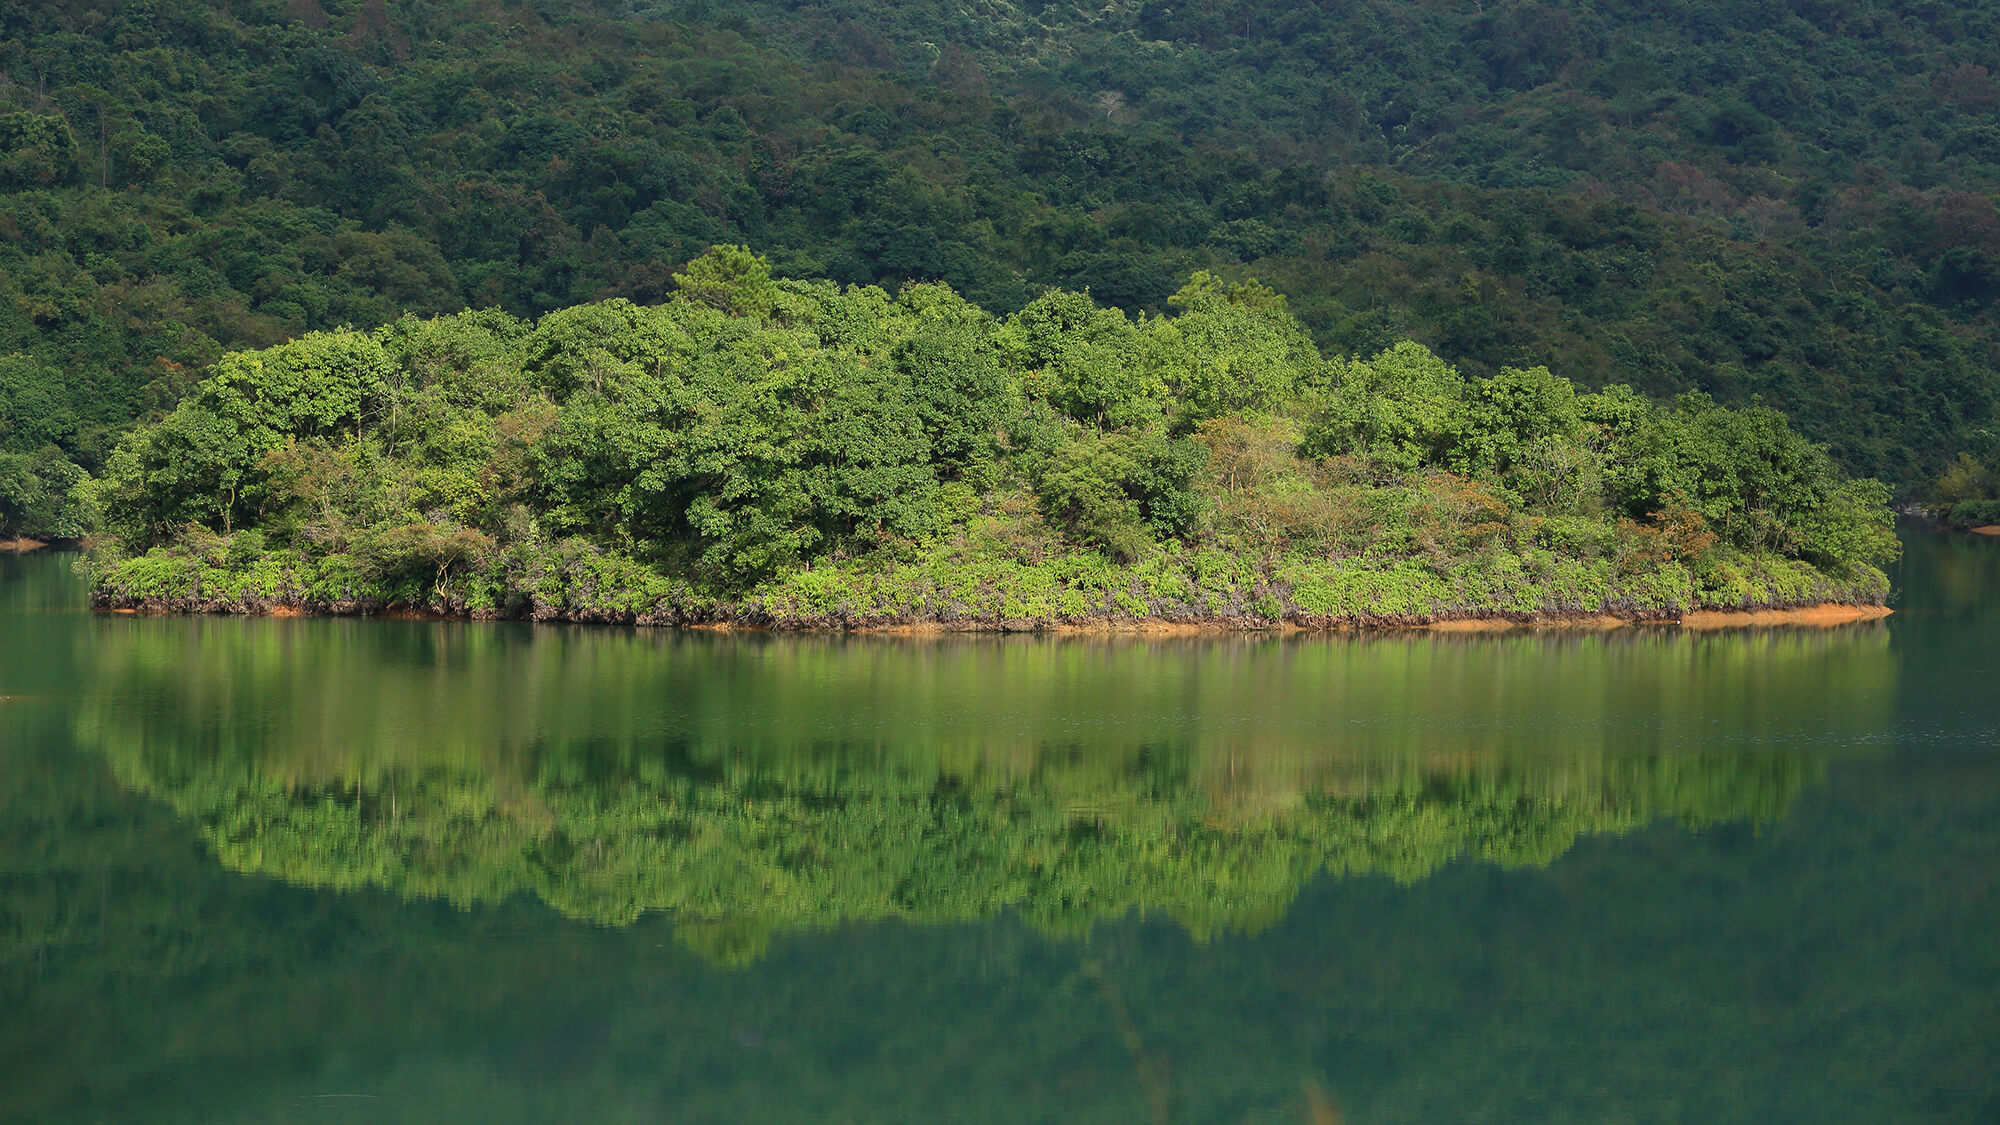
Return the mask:
M1834 631L94 617L6 1121L1996 1121L2000 542Z

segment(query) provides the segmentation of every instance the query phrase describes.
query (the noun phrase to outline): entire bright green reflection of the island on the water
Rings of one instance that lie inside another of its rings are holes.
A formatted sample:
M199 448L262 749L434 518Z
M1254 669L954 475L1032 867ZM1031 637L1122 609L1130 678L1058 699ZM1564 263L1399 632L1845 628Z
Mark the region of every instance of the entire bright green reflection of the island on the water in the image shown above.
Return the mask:
M1886 635L888 643L106 621L80 735L224 863L776 931L1278 917L1318 871L1770 819ZM1832 709L1832 711L1828 711ZM1776 747L1774 747L1776 743Z

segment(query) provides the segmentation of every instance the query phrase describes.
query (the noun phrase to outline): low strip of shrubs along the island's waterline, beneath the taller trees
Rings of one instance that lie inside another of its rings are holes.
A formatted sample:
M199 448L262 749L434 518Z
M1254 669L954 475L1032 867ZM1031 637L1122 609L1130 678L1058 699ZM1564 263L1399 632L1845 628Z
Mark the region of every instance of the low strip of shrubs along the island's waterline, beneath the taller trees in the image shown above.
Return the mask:
M360 593L346 575L290 552L252 567L192 552L154 552L100 569L100 611L278 617L436 617L646 627L772 631L1270 631L1410 629L1444 623L1678 625L1686 615L1740 617L1852 607L1846 619L1878 617L1888 583L1880 573L1846 581L1792 562L1740 579L1736 597L1700 589L1684 565L1664 565L1644 583L1612 585L1602 571L1552 554L1468 558L1438 575L1402 560L1262 558L1166 554L1116 565L1072 554L1038 567L928 558L884 573L854 567L798 571L740 597L702 593L630 560L570 544L540 569L470 575L444 593ZM366 591L366 589L364 589ZM1794 619L1792 623L1804 623ZM1822 615L1820 623L1842 623Z

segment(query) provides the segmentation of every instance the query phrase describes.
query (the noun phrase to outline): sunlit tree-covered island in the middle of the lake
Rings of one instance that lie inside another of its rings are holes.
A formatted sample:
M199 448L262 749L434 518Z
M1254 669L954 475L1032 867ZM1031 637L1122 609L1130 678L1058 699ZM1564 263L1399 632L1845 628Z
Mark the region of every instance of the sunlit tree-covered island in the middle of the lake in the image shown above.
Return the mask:
M1880 601L1888 490L1768 408L1166 316L772 278L232 352L80 488L104 605L778 627Z

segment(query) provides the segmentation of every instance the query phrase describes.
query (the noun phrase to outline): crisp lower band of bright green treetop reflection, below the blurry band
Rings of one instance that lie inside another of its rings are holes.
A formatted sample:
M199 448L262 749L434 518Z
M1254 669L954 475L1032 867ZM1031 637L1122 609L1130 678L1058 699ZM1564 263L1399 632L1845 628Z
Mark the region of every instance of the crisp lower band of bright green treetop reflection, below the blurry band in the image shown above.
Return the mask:
M736 765L528 785L472 769L390 769L362 787L284 783L244 763L118 773L194 819L234 869L314 887L380 885L458 903L530 891L740 961L774 931L840 921L972 921L1018 909L1076 931L1128 909L1196 933L1276 921L1318 871L1418 879L1458 857L1548 863L1578 835L1658 817L1770 819L1818 773L1800 757L1612 759L1594 777L1492 763L1412 773L1366 795L1308 787L1246 819L1190 785L1182 755L1058 765L1008 783L908 769L832 777ZM1340 789L1348 789L1342 785Z

